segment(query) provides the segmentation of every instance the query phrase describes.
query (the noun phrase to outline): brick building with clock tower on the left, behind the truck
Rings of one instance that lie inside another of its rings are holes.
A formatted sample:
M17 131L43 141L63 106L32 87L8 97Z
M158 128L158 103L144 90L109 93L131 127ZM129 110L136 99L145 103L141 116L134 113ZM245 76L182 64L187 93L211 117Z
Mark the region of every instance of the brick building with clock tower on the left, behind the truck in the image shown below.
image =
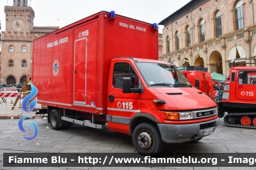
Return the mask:
M28 0L4 6L6 28L1 33L1 83L18 84L31 74L32 42L59 27L33 26L35 12Z

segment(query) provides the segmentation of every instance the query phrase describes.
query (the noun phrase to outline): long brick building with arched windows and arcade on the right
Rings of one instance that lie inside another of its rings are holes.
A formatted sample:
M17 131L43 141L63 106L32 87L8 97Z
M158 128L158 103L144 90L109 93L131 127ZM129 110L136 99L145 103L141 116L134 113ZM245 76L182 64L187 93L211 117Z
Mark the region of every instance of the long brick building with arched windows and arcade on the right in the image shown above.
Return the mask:
M164 25L159 59L228 75L228 62L237 58L255 61L255 12L252 0L189 1L159 23Z

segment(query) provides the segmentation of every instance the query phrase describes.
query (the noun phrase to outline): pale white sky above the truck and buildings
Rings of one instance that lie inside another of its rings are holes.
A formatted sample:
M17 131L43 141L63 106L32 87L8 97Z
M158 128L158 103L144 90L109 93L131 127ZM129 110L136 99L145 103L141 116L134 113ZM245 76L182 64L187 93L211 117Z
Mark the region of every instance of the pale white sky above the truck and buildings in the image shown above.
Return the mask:
M31 0L34 26L67 26L100 11L115 11L132 19L157 24L190 0ZM0 0L1 31L5 31L4 6L13 0ZM29 0L28 0L29 6ZM58 20L59 19L59 20ZM159 26L162 33L163 26Z

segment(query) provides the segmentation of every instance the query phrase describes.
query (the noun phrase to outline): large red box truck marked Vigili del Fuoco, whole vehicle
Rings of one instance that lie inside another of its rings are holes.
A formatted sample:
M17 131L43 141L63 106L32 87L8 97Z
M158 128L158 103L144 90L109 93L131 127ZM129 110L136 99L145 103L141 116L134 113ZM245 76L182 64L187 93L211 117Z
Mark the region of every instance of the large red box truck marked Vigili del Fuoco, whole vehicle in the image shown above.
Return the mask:
M220 124L216 104L176 66L158 61L157 47L156 24L114 12L34 40L32 82L47 105L39 114L54 130L107 123L131 135L142 155L211 134Z

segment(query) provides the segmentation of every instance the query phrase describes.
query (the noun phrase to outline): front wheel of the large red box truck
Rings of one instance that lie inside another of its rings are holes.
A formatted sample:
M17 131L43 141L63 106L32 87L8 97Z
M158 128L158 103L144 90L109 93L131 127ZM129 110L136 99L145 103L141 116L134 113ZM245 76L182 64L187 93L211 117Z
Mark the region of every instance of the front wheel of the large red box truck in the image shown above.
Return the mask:
M161 152L164 146L157 125L150 122L141 123L134 129L132 142L138 153L148 156Z

